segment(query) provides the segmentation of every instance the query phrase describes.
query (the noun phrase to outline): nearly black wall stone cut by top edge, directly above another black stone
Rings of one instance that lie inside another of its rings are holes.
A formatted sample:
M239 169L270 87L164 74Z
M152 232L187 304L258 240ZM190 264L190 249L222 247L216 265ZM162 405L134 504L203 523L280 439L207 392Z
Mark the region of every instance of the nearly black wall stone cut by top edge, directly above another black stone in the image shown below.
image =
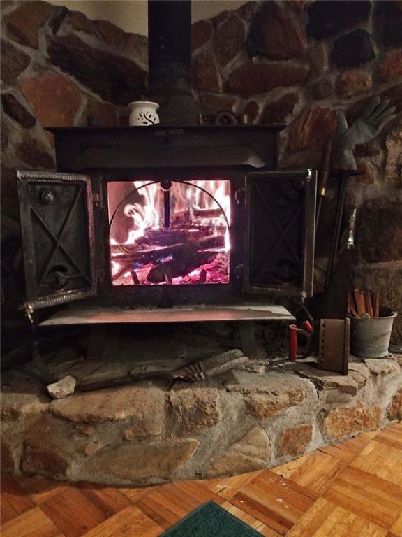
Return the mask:
M368 19L371 2L368 0L316 0L308 6L307 11L308 34L316 39L326 39Z

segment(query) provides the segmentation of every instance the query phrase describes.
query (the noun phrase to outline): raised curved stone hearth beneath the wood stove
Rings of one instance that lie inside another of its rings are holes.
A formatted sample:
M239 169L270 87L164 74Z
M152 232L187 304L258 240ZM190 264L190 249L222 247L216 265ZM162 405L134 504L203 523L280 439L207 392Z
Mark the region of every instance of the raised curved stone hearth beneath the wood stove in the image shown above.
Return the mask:
M50 401L3 375L1 469L151 485L269 468L402 418L402 355L352 359L348 376L311 359L190 385L137 382Z

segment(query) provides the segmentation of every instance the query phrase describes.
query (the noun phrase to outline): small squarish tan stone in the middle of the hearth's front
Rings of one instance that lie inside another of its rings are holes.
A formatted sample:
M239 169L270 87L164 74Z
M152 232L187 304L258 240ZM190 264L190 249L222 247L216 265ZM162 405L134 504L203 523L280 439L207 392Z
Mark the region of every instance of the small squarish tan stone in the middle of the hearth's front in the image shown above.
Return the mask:
M212 427L220 418L219 392L216 388L177 389L169 394L174 421L188 431Z

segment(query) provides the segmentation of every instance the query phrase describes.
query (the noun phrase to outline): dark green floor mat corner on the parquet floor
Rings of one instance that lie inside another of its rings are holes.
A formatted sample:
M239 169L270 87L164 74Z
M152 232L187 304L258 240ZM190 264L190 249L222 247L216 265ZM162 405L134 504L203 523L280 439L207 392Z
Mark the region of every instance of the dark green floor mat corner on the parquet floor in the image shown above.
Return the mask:
M165 531L161 537L261 537L251 528L214 501L193 510L183 520Z

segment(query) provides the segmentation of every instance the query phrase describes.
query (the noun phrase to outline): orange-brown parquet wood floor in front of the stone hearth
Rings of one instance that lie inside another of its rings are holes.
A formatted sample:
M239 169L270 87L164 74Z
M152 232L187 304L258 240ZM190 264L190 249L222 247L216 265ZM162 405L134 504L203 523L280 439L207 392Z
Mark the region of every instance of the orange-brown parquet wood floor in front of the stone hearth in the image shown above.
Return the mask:
M266 537L402 537L402 423L288 464L147 488L1 482L2 537L157 537L214 500Z

